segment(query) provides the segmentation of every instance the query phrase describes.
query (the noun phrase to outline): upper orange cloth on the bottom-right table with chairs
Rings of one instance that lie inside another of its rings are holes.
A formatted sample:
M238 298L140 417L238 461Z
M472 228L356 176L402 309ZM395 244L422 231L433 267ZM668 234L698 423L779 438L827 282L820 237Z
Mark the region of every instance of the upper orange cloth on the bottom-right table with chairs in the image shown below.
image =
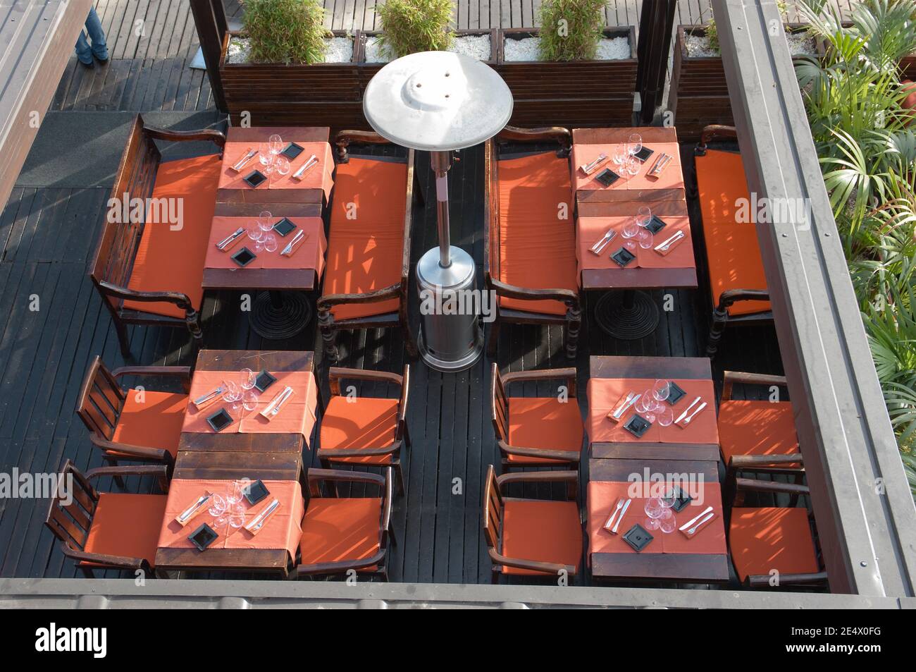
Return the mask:
M629 418L635 413L633 407L619 423L614 423L607 418L607 413L614 410L620 397L629 391L643 393L651 390L655 382L653 379L610 379L593 378L588 381L586 392L588 395L588 419L585 430L588 432L589 441L597 442L638 442L638 443L676 443L676 444L718 444L719 430L715 422L715 391L712 380L681 380L672 379L686 392L671 411L674 419L690 405L696 397L703 397L706 408L693 417L686 427L671 424L662 427L658 422L652 424L646 433L639 438L624 429ZM662 402L668 404L668 402ZM702 402L693 407L691 413Z

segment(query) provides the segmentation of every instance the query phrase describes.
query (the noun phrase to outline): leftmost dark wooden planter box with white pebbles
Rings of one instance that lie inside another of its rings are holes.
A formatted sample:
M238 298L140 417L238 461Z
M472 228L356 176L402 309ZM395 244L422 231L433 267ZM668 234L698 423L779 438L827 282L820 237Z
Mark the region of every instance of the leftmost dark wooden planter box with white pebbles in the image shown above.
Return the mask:
M335 37L346 37L334 30ZM243 112L252 126L351 127L363 119L363 91L358 62L361 40L354 33L353 59L347 63L284 65L282 63L226 63L227 32L220 58L226 105L234 124Z

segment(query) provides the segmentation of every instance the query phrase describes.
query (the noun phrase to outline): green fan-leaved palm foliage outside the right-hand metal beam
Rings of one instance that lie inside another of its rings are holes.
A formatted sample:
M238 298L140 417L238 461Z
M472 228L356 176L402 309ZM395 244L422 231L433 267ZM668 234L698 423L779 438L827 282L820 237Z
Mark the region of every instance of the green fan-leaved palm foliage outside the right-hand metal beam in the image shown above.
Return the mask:
M800 59L795 70L916 494L916 126L898 65L916 52L913 4L863 0L851 27L825 0L800 0L799 10L826 45L823 61Z

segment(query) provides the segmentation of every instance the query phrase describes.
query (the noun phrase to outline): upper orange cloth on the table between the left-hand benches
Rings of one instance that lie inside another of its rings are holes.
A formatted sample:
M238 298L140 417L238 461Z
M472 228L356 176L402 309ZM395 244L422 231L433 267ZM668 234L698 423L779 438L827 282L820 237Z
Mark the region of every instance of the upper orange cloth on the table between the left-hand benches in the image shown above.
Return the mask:
M244 178L251 171L264 172L263 166L254 159L248 161L245 167L238 172L232 170L235 165L249 149L258 149L256 142L226 142L223 150L223 167L220 170L219 189L246 189L255 191L260 189L321 189L324 192L324 199L327 201L331 196L331 187L333 186L334 160L331 153L331 145L327 142L300 142L296 138L283 138L283 142L295 142L302 148L302 153L295 159L289 161L289 173L278 175L277 171L267 175L267 182L261 182L256 187L251 187ZM292 174L300 169L300 166L309 160L314 154L318 157L318 165L310 168L299 182L292 179Z

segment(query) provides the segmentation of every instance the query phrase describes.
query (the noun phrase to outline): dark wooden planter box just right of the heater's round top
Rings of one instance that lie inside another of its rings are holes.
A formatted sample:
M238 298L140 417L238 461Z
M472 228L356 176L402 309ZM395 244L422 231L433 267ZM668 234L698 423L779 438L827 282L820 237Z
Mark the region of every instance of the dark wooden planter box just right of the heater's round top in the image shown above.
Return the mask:
M537 37L539 29L498 32L496 72L515 98L510 124L587 127L632 122L638 62L635 28L605 28L606 37L629 40L630 57L616 61L506 61L507 39Z

